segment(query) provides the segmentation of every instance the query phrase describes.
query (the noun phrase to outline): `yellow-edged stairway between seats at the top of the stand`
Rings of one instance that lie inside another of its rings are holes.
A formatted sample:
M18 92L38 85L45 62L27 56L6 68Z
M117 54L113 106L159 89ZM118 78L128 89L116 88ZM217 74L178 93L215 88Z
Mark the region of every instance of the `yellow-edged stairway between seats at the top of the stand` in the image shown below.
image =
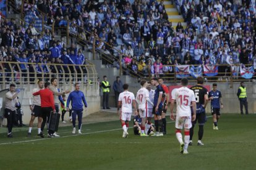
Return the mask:
M158 2L160 3L161 0L158 0ZM184 18L182 17L182 15L179 15L179 12L177 11L176 6L172 4L171 1L164 0L164 7L166 10L166 13L168 14L168 20L169 22L172 22L174 29L176 29L178 22L181 22L181 25L184 28L187 27L187 23L184 22Z

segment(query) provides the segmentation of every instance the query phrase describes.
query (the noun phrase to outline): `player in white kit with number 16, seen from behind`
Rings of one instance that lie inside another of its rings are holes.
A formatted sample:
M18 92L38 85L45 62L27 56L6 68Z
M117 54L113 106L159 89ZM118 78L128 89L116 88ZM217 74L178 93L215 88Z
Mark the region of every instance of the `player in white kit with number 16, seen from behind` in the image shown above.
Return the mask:
M124 129L124 132L122 133L122 137L127 137L129 134L127 132L129 128L129 121L130 117L132 116L132 107L135 109L135 115L138 115L137 113L137 105L135 102L135 96L132 92L128 91L128 84L124 84L122 86L124 88L124 92L121 92L118 97L118 106L117 106L117 114L120 113L120 120L122 123L122 129ZM119 108L121 108L121 111L119 112Z

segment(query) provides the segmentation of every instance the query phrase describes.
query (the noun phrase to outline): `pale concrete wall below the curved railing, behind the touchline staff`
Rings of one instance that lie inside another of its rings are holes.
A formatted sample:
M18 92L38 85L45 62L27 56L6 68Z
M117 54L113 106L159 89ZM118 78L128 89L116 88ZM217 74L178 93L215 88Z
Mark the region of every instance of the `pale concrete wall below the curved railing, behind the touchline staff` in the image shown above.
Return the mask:
M35 84L23 84L23 85L17 85L17 88L24 89L23 92L23 100L22 100L22 110L23 110L23 123L28 124L30 121L30 108L29 108L29 98L32 97L32 90L36 87ZM70 89L74 91L73 85L67 85L67 84L59 84L58 86L60 89ZM1 87L1 89L9 88L9 85L6 87ZM84 108L83 110L83 117L90 115L92 113L95 113L97 111L100 111L100 89L98 86L94 85L82 85L81 91L85 94L85 99L87 100L88 107ZM69 94L66 94L66 99L69 96ZM3 97L3 96L1 96ZM71 105L71 104L70 104ZM60 107L60 105L59 105ZM67 119L69 116L68 113L65 115L65 119ZM35 121L36 123L36 121Z

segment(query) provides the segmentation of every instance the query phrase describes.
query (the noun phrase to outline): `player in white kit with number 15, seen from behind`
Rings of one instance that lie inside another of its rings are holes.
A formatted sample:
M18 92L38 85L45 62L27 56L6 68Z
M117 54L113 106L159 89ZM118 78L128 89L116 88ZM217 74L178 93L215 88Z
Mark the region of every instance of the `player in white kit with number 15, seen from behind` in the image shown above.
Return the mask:
M181 79L181 85L179 89L177 89L174 92L174 95L172 96L171 100L171 116L170 118L174 120L173 115L173 108L174 108L174 102L176 101L176 137L180 144L180 152L187 154L187 147L189 146L189 129L192 127L191 123L191 110L190 110L190 103L192 103L193 108L193 116L192 121L195 121L195 113L197 110L197 105L195 103L195 94L192 90L187 88L187 85L189 84L189 81L187 78ZM181 130L184 127L184 142L182 140L182 134Z

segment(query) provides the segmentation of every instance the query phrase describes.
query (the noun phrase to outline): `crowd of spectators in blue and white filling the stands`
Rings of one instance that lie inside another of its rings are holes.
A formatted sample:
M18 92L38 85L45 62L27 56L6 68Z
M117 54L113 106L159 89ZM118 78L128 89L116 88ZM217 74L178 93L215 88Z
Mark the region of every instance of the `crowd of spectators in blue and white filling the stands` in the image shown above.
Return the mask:
M133 70L134 73L172 73L173 67L165 65L243 63L254 64L256 67L254 0L176 0L173 3L187 26L182 26L180 22L173 26L168 20L164 2L156 0L38 0L25 3L25 12L37 17L38 10L47 14L48 17L44 19L49 26L55 21L56 30L69 24L70 33L82 39L84 44L95 40L98 51L109 55L114 67L119 67L117 61L121 57L122 67ZM25 54L27 60L33 60L28 54L31 55L34 51L49 55L43 57L46 62L60 57L59 62L65 63L66 60L61 55L66 52L67 55L72 55L72 51L63 50L66 46L62 41L54 45L53 35L49 30L43 36L36 34L33 23L26 29L22 26L14 28L12 21L1 22L1 34L13 36L13 41L8 42L9 44L2 41L4 50L13 48L14 53L19 51ZM58 55L53 49L59 49L56 52ZM115 49L120 50L117 52ZM74 51L74 54L77 57L77 52ZM80 54L82 55L82 51ZM113 59L113 55L117 60ZM22 55L11 59L20 58ZM219 68L223 72L227 67Z

